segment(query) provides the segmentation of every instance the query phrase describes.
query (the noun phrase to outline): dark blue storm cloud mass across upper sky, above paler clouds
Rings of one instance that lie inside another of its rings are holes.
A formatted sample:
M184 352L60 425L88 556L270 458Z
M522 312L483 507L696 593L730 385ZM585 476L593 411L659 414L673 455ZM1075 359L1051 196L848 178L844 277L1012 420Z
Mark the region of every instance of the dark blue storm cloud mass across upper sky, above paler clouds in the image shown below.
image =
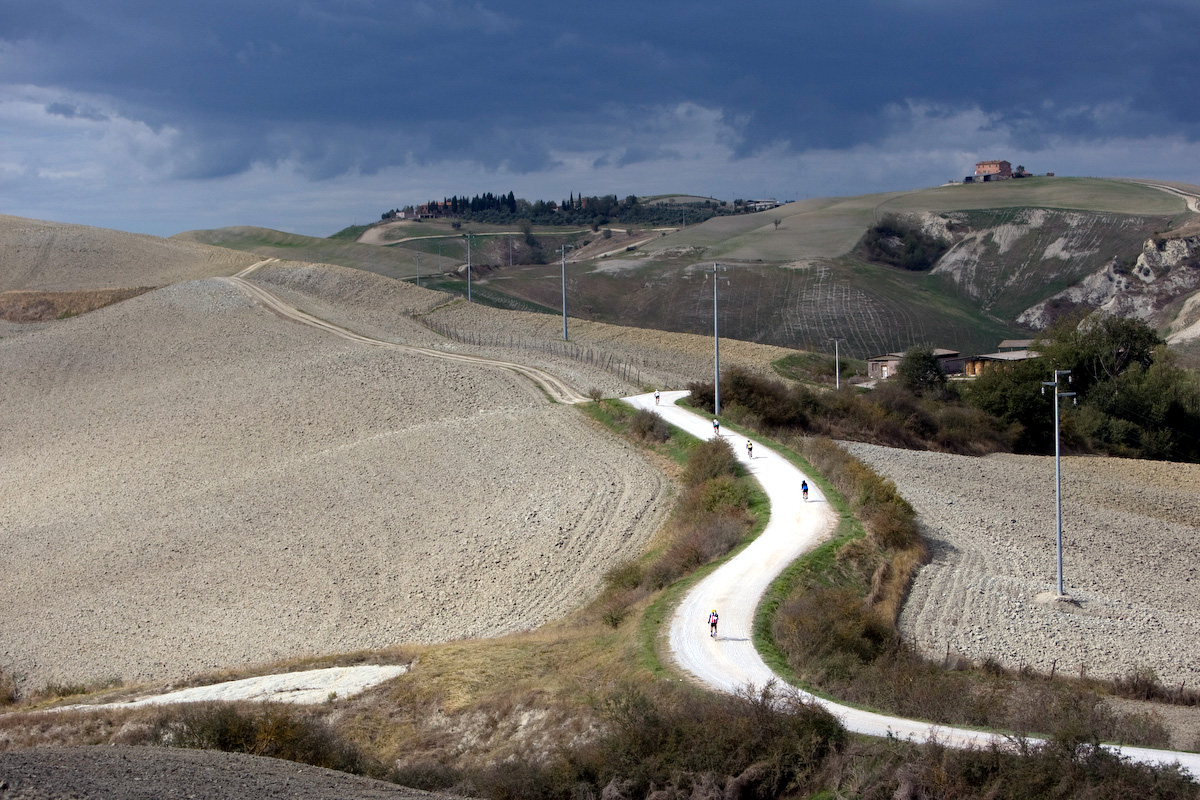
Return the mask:
M6 0L0 64L6 82L178 130L181 176L284 161L312 178L442 160L521 173L564 146L620 146L620 119L680 103L722 113L739 155L876 143L887 109L913 102L978 108L1028 149L1195 139L1198 29L1200 4L1181 0ZM632 144L624 163L654 157Z

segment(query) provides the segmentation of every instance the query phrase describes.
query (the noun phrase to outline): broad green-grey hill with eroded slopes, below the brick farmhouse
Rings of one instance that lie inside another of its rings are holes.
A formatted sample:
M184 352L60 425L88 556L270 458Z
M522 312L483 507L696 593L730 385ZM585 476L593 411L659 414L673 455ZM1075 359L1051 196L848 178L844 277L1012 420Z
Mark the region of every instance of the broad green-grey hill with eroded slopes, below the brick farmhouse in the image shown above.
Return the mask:
M856 246L886 215L953 247L926 272L871 263ZM568 305L586 319L712 331L720 263L720 326L732 338L828 349L841 337L856 356L918 343L985 353L1028 336L1020 315L1031 307L1115 260L1134 263L1146 241L1194 217L1177 194L1103 179L812 199L589 254L569 267ZM500 267L479 284L533 307L560 303L557 265Z

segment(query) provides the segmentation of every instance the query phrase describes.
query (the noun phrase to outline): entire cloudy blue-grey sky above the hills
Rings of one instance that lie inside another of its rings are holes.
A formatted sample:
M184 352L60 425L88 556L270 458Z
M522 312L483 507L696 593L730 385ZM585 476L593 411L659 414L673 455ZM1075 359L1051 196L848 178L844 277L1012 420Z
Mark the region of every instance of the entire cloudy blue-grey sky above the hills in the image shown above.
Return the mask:
M329 235L450 194L1200 184L1196 0L0 0L0 213Z

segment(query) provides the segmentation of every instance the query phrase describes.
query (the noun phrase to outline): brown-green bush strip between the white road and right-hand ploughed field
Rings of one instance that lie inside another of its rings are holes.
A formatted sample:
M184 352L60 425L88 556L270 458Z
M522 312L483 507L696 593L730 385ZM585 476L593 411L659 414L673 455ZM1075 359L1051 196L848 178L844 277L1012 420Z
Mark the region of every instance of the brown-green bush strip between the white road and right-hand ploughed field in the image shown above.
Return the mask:
M947 724L1169 744L1157 718L1115 712L1094 681L1051 681L950 654L936 663L914 652L895 626L925 557L912 507L890 481L834 443L793 438L788 444L847 498L868 531L814 554L814 567L800 573L775 616L775 642L805 681L851 703ZM1163 691L1145 675L1124 682L1127 696Z

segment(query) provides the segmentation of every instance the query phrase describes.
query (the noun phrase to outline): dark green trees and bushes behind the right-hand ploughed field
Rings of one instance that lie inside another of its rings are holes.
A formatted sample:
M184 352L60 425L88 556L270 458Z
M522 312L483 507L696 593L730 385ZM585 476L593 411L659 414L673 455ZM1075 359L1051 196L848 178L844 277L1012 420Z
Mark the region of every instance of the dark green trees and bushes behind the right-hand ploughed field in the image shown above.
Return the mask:
M1200 462L1200 375L1177 366L1144 321L1075 315L1032 349L1039 357L958 384L947 380L932 349L912 348L895 377L866 393L786 386L734 368L721 378L722 413L784 435L967 455L1051 453L1054 399L1042 384L1055 369L1069 369L1078 404L1060 401L1068 451ZM712 408L712 383L691 390L694 403Z

